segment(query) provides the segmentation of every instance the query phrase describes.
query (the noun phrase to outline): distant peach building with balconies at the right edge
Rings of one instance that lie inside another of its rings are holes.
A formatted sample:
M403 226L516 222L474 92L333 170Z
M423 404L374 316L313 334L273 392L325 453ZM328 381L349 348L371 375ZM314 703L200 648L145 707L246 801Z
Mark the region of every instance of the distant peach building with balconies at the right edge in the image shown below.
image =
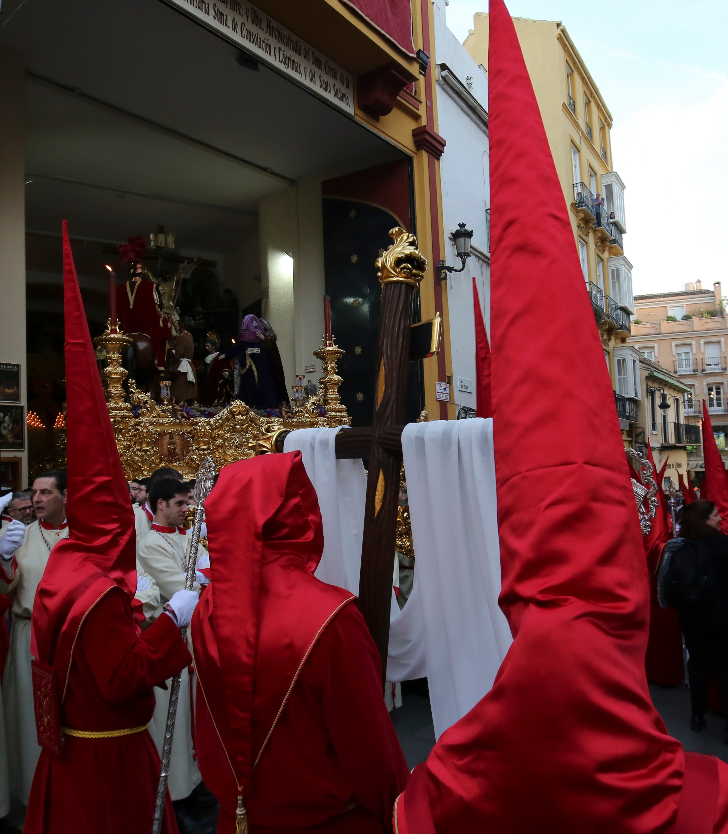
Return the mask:
M696 281L685 284L681 292L635 296L634 313L629 344L685 386L682 407L687 424L700 426L705 401L718 448L728 460L728 319L720 282L703 289ZM700 435L689 451L690 469L703 470Z

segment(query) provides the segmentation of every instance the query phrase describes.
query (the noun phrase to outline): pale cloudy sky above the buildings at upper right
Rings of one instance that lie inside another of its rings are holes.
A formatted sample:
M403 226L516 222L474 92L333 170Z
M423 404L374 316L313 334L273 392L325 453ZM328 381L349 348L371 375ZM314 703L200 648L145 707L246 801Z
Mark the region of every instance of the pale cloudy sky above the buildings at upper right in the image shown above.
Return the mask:
M513 17L560 20L614 118L634 294L723 282L728 296L728 2L510 0ZM462 42L487 0L450 0Z

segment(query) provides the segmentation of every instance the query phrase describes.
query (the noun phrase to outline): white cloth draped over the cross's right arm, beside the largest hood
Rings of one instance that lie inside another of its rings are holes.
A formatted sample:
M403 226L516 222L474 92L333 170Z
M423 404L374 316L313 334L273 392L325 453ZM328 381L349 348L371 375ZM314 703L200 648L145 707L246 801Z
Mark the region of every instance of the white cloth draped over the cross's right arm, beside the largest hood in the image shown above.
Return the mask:
M493 420L411 423L402 454L415 575L391 625L387 678L426 671L439 737L490 690L512 641L498 607Z

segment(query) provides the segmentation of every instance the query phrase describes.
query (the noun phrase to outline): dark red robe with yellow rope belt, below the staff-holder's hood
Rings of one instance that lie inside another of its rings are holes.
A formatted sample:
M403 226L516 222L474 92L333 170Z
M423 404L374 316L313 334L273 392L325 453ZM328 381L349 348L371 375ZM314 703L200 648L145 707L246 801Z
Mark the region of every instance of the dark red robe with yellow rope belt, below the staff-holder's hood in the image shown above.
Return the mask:
M109 731L149 724L152 686L190 660L171 617L160 616L141 634L125 595L107 594L89 613L73 652L61 725ZM149 731L104 739L63 736L61 756L41 751L23 831L151 831L158 781L159 755ZM169 794L162 830L177 831Z

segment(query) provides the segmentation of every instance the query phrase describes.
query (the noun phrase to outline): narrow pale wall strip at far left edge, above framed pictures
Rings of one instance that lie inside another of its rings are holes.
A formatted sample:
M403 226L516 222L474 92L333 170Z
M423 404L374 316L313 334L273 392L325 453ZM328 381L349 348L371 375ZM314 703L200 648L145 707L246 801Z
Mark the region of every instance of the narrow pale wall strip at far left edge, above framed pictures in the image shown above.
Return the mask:
M25 153L23 59L0 48L0 362L20 365L20 397L28 412L28 362L25 353ZM28 485L26 451L21 489Z

